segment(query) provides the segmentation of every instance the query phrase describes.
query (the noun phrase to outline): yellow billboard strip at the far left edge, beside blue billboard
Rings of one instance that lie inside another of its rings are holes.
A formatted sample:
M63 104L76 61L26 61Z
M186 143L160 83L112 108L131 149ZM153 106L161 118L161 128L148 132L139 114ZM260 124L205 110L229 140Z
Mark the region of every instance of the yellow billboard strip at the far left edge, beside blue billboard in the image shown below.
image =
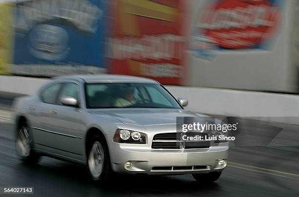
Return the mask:
M11 74L13 7L12 3L0 3L0 74Z

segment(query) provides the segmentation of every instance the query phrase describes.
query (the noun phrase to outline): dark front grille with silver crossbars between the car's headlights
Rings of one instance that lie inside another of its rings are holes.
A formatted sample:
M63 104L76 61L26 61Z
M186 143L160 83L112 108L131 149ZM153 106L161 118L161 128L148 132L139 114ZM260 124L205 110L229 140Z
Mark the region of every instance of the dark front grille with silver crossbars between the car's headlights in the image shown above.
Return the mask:
M206 135L203 133L197 133ZM151 148L154 149L190 149L190 148L209 148L210 141L180 141L182 133L160 133L153 137Z

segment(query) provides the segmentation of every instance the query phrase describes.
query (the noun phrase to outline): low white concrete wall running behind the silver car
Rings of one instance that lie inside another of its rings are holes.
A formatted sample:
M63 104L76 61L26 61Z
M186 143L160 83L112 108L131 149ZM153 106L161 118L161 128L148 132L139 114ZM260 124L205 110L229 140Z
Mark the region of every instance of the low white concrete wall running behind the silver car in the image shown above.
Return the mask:
M0 91L32 95L49 79L0 75ZM166 86L187 109L225 116L265 117L264 121L299 124L299 96L229 89Z

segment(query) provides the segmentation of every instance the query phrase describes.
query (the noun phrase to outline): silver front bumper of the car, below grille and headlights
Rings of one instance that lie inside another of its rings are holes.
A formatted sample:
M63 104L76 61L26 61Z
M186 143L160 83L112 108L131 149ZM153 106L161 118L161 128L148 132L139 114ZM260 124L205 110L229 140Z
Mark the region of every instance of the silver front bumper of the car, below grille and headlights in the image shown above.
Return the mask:
M228 143L199 149L151 149L146 145L115 143L110 152L111 166L119 173L188 174L220 172L218 161L228 158ZM132 162L132 168L125 167Z

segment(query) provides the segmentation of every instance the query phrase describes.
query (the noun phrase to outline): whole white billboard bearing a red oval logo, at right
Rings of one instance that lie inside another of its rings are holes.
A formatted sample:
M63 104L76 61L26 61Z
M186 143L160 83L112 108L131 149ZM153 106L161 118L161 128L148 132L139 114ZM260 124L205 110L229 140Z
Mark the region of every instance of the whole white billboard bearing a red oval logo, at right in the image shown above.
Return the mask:
M297 92L291 32L298 0L192 0L187 84Z

